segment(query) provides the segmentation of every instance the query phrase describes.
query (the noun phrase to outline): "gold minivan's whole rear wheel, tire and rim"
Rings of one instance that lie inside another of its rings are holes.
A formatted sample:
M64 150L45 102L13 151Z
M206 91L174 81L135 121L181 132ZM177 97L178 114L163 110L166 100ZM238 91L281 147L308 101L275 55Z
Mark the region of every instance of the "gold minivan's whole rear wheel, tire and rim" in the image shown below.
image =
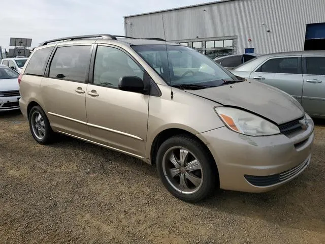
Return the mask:
M52 142L54 132L40 106L34 106L30 109L28 120L31 135L38 143L48 144Z

